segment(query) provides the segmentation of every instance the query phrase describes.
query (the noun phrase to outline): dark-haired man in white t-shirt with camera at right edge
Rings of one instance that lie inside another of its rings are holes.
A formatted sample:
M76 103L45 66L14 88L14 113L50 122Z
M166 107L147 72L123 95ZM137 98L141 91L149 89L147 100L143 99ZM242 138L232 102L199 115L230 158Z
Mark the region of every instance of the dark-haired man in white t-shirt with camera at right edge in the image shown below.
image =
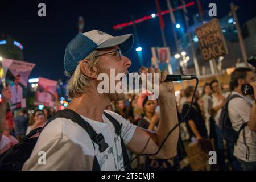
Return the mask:
M233 98L228 104L229 118L234 130L238 131L243 123L247 126L240 132L237 144L234 146L234 156L245 171L256 170L256 84L255 73L250 68L237 68L231 74L230 89L232 94L241 97ZM243 84L254 86L254 98L251 100L242 95L241 87Z

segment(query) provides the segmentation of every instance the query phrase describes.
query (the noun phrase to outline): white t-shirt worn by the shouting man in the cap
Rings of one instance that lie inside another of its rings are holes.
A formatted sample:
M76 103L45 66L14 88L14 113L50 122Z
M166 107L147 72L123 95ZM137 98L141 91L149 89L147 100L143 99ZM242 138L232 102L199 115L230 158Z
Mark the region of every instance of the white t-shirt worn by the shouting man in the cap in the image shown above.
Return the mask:
M127 145L135 132L132 125L121 115L105 110L122 123L121 137ZM100 153L88 133L77 123L66 118L56 118L48 124L38 138L38 142L23 170L92 170L93 159L96 155L101 170L124 170L121 140L115 134L115 128L105 115L103 123L93 121L81 115L96 131L102 133L108 148ZM46 164L38 164L39 151L46 152Z

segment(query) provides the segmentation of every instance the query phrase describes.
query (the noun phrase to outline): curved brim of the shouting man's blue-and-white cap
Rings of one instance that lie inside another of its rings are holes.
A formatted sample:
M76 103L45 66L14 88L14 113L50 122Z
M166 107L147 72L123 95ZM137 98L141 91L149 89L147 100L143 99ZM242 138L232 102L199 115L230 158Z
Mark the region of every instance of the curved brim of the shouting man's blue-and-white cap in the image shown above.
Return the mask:
M115 36L101 43L96 49L104 49L109 47L119 46L123 53L130 51L133 47L133 34Z

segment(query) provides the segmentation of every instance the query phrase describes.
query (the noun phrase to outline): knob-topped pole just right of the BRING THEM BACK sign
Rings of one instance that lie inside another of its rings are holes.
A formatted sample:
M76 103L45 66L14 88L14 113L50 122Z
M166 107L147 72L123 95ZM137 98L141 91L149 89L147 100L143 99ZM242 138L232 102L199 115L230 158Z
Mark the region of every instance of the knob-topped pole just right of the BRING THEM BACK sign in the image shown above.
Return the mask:
M236 11L237 11L238 7L236 5L234 5L234 3L230 3L230 9L231 9L231 12L232 12L232 15L233 15L234 19L236 20L237 35L238 35L238 40L239 40L239 43L240 43L240 48L241 48L241 52L242 52L242 56L243 56L243 61L245 61L245 64L248 65L245 43L243 42L242 32L241 32L241 28L240 28L238 18L237 18L237 12Z

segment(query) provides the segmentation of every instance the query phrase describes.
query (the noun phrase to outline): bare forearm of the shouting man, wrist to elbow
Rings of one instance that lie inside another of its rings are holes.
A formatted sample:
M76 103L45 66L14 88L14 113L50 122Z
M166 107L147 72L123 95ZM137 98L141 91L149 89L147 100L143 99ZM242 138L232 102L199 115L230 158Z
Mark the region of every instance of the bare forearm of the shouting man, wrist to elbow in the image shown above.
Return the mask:
M158 129L156 130L156 139L158 141L158 145L160 146L164 138L166 138L168 131L170 131L178 123L174 93L170 93L170 96L159 97L159 106L160 122ZM167 156L167 158L171 158L176 155L178 139L179 127L177 127L177 129L171 133L161 150L163 154Z

